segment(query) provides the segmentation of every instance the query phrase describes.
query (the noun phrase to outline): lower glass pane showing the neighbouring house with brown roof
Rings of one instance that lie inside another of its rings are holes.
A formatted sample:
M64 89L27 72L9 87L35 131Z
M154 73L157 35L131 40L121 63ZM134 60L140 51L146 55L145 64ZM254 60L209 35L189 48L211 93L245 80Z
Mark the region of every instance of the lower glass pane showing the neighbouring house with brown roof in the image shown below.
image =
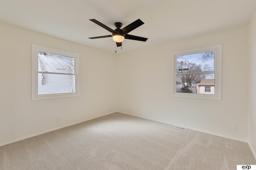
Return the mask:
M205 91L207 87L210 91ZM176 75L176 92L195 94L214 94L215 74ZM206 93L207 92L207 93Z

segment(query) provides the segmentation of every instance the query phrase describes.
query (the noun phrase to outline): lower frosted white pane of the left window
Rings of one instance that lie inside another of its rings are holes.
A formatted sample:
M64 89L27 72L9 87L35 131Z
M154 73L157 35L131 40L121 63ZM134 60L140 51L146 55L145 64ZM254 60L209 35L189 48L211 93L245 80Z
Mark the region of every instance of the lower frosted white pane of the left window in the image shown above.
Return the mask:
M38 94L75 92L75 76L38 73Z

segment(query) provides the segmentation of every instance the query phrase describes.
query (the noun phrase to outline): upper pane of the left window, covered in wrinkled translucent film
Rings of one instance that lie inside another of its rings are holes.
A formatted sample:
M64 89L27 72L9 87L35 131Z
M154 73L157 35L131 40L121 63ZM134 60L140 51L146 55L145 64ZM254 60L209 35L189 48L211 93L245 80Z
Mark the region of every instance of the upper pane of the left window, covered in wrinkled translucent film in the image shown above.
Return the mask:
M74 74L74 58L38 52L38 71Z

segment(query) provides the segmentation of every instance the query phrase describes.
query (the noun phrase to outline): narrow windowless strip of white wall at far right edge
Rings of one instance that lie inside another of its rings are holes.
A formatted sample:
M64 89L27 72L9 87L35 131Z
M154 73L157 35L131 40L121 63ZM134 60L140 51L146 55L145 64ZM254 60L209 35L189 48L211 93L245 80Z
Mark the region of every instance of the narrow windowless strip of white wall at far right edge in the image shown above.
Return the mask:
M256 158L256 12L248 25L248 143Z

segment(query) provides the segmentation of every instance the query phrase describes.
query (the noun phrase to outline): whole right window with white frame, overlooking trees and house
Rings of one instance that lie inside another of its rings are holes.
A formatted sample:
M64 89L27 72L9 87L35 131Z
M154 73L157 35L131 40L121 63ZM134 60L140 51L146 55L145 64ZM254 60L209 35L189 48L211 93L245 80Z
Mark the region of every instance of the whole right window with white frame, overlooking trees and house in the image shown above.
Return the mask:
M221 100L222 45L172 53L172 96Z

